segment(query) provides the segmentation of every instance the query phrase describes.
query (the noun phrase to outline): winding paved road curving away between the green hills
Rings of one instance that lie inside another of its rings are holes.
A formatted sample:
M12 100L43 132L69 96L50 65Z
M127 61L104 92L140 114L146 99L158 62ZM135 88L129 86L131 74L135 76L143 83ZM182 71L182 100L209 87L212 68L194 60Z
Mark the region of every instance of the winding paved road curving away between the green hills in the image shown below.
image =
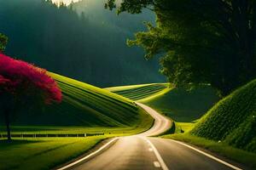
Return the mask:
M107 150L92 159L81 161L67 169L76 170L225 170L240 169L232 167L225 161L207 155L201 150L170 139L159 139L154 136L165 132L171 122L165 116L139 104L148 114L154 117L154 126L147 132L129 137L122 137Z

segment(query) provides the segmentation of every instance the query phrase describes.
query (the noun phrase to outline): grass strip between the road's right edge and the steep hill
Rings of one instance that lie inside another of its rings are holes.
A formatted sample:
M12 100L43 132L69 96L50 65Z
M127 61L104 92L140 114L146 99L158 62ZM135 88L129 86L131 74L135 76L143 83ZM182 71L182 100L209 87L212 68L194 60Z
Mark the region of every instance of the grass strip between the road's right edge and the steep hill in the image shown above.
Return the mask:
M193 144L206 150L210 150L212 153L216 153L219 156L224 156L225 158L239 162L247 167L251 167L253 169L256 168L256 154L234 148L222 142L218 143L213 140L190 135L189 133L168 134L161 136L161 138L175 139L188 144Z

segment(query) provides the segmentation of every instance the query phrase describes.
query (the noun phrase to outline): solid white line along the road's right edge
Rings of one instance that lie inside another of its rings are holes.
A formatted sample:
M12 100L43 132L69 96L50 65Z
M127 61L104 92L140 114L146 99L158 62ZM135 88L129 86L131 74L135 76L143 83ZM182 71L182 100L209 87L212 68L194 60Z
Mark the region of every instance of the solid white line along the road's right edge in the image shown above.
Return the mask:
M172 140L172 139L168 139L168 140ZM236 170L242 170L240 167L236 167L236 166L234 166L234 165L231 165L230 163L228 163L228 162L226 162L226 161L223 161L223 160L220 160L220 159L218 159L217 157L212 156L212 155L210 155L210 154L207 154L206 152L204 152L204 151L202 151L202 150L198 150L198 149L196 149L196 148L190 146L189 144L184 144L183 142L179 142L179 141L177 141L177 140L172 140L172 142L176 142L177 144L183 144L184 146L187 146L189 149L195 150L195 151L201 153L201 154L204 155L204 156L207 156L207 157L209 157L209 158L211 158L211 159L213 159L213 160L215 160L215 161L218 161L219 163L224 164L224 165L227 166L227 167L231 167L231 168L236 169Z

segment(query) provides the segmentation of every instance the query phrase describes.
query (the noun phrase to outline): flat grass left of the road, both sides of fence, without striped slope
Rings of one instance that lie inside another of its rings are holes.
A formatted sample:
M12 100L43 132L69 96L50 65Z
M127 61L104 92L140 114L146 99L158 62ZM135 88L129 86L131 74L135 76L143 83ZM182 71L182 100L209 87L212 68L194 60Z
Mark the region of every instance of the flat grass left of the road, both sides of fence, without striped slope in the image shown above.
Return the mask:
M137 124L131 127L12 127L12 133L104 133L84 138L26 138L11 143L0 139L0 169L51 169L90 150L103 139L143 133L154 122L138 110ZM0 133L5 133L0 127Z

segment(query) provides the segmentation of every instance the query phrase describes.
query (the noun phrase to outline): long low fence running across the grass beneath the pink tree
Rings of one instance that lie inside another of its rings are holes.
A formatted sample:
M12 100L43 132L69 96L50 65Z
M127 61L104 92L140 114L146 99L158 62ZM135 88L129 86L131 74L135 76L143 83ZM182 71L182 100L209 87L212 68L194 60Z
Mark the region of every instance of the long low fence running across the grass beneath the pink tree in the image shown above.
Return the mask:
M59 134L54 134L54 133L49 133L49 134L43 134L43 133L15 133L11 134L12 138L68 138L68 137L88 137L88 136L100 136L104 135L104 133L59 133ZM0 139L7 138L7 134L1 134L0 133Z

